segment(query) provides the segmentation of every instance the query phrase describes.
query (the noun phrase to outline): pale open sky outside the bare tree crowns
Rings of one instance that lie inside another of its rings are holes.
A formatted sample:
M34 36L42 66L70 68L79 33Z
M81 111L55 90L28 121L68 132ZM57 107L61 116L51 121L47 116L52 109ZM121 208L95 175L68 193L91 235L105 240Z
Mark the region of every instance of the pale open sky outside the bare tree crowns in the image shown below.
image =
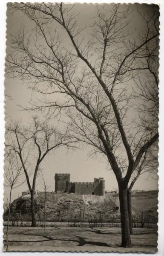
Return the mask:
M80 22L90 23L90 17L95 16L95 6L92 5L77 5L75 7L80 13ZM134 7L136 8L136 6ZM135 29L135 22L142 23L135 18L130 24L131 29ZM30 29L32 26L31 21L20 12L15 12L7 19L7 49L11 47L10 34L14 34L17 29L23 24ZM136 32L137 33L137 32ZM65 39L63 35L63 39ZM6 99L6 121L9 117L13 119L21 118L23 124L28 124L31 119L32 113L21 111L20 105L25 106L31 100L31 90L28 89L26 82L21 82L19 79L6 79L5 83L6 94L10 95L12 99ZM117 188L115 175L107 164L106 159L103 157L89 157L88 148L81 148L75 151L69 151L60 148L54 155L47 155L42 164L42 169L45 170L47 183L51 184L51 189L55 189L55 173L70 173L72 181L93 181L94 177L104 177L105 189L107 191ZM17 189L14 189L12 199L15 199L21 194L22 191L27 190L28 186L23 184ZM39 184L37 189L40 191ZM133 189L153 190L158 189L157 175L148 173L141 175L135 183ZM9 189L5 188L4 199L9 197Z

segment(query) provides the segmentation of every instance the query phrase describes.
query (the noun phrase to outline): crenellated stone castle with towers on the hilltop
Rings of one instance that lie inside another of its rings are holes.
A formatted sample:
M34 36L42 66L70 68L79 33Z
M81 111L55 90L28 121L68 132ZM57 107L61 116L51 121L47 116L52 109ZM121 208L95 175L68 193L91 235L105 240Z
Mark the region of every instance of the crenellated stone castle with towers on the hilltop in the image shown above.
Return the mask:
M94 178L94 182L72 182L69 173L55 174L55 192L67 192L78 195L104 195L104 178Z

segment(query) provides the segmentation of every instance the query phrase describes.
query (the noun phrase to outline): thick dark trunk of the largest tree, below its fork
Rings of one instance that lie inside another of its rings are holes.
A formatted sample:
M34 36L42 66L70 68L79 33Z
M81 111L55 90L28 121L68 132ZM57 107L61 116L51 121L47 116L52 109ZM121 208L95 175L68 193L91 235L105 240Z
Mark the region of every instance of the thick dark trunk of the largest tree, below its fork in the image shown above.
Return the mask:
M121 213L121 247L131 247L127 188L119 186L119 200Z

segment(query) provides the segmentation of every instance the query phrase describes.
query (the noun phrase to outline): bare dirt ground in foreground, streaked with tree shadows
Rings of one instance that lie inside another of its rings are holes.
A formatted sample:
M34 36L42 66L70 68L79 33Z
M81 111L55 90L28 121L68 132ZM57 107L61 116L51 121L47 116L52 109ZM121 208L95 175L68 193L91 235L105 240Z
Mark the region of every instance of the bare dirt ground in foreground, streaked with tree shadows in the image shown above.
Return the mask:
M121 229L86 227L9 227L9 251L143 252L157 251L155 228L134 228L131 248L121 248ZM4 227L4 251L6 227Z

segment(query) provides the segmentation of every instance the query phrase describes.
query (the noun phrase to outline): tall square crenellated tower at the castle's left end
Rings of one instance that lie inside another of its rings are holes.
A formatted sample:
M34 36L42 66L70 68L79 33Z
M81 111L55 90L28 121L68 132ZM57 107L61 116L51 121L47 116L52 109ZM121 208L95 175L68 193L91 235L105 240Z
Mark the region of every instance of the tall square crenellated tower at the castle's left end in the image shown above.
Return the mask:
M55 173L55 192L66 190L66 181L70 181L69 173Z

